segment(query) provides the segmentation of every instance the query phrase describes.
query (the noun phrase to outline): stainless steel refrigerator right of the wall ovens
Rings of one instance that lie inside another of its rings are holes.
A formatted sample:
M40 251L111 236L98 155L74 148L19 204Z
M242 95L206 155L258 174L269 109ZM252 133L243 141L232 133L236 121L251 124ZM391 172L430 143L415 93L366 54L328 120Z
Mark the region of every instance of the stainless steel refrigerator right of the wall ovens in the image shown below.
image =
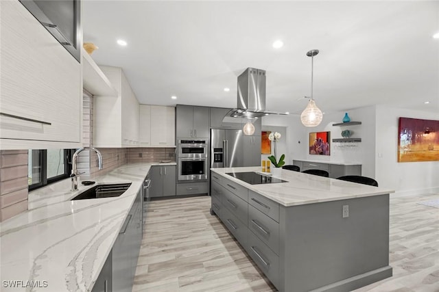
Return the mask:
M244 163L242 130L211 129L211 168L236 168Z

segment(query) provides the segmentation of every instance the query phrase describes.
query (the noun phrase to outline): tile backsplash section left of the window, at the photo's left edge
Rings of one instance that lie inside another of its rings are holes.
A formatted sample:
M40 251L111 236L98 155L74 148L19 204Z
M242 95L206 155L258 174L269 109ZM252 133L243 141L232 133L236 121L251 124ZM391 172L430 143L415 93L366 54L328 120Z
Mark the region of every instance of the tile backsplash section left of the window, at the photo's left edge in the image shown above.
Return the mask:
M0 151L0 222L27 210L27 150Z

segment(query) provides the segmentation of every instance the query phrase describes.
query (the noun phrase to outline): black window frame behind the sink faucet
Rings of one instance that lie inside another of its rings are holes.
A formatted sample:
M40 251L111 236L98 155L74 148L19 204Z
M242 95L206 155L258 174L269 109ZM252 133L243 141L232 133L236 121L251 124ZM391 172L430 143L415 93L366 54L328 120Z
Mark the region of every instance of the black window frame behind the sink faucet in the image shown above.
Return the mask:
M64 149L64 173L58 176L53 176L51 178L47 178L47 149L30 149L32 151L38 151L39 155L39 165L40 165L40 182L33 183L28 186L29 191L34 189L39 189L40 187L45 187L46 185L50 185L51 183L55 183L57 181L61 181L64 178L68 178L71 174L71 159L73 157L73 153L75 149ZM29 165L27 166L29 168Z

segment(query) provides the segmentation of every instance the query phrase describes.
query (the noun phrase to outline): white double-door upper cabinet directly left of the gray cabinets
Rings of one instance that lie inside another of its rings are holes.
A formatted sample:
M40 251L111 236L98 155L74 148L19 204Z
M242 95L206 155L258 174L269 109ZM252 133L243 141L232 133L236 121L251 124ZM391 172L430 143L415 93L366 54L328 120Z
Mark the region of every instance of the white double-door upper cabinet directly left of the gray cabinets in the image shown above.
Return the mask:
M175 147L175 107L140 105L140 146Z

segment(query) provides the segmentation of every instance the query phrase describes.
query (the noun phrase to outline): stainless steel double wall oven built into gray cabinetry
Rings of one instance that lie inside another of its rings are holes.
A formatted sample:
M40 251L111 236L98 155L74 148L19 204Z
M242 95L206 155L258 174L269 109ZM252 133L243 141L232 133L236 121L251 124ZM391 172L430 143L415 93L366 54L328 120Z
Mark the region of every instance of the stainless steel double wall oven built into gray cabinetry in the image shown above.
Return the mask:
M178 181L206 181L209 139L178 140Z

